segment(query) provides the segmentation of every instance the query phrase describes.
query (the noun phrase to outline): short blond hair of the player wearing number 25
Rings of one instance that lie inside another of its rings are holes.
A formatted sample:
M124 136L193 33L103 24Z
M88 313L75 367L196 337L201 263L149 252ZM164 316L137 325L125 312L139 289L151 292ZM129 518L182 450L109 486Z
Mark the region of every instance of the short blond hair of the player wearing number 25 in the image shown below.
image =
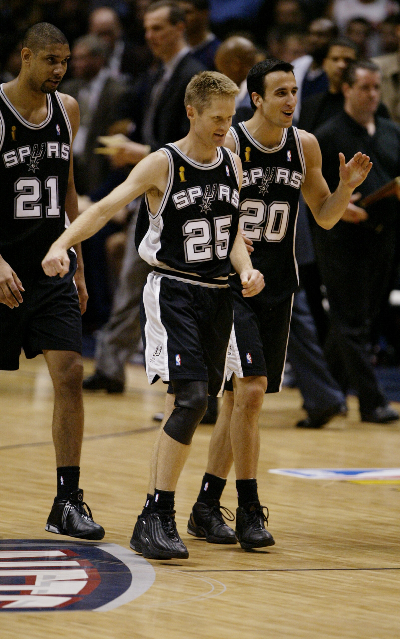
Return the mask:
M194 75L185 92L185 107L190 104L202 113L211 103L212 96L235 98L239 93L237 84L218 71L202 71Z

